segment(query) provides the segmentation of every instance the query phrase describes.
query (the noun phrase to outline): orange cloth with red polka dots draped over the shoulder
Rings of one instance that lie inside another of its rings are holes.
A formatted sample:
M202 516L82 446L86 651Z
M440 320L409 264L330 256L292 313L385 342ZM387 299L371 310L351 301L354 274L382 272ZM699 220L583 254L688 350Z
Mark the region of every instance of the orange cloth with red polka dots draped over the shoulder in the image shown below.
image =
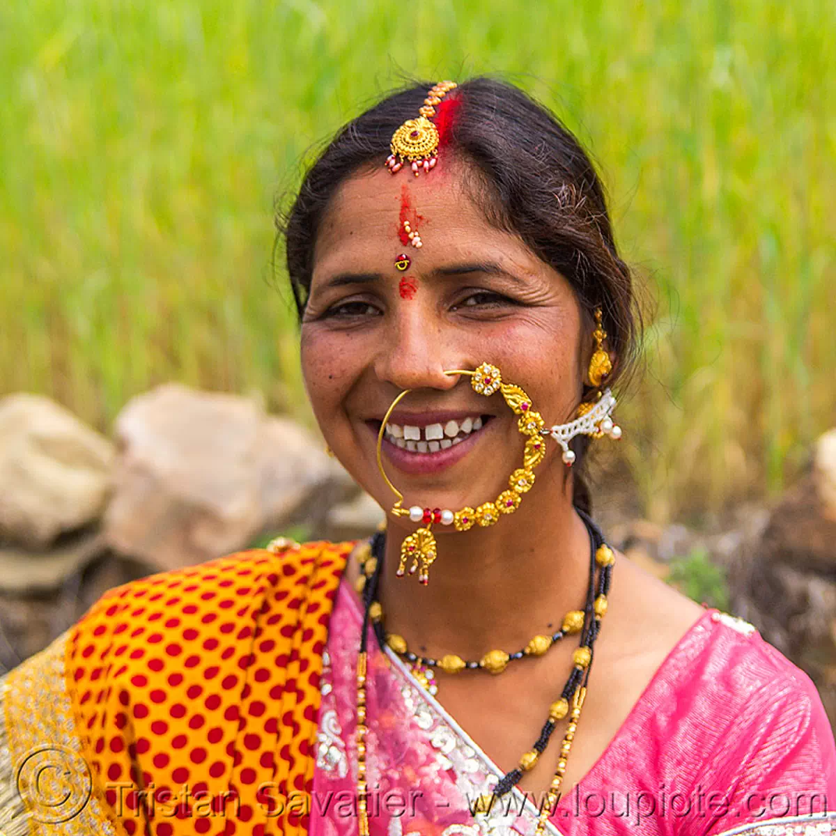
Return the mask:
M76 724L125 833L307 832L305 805L277 815L275 800L313 784L322 655L353 547L161 573L110 590L76 624L65 659Z

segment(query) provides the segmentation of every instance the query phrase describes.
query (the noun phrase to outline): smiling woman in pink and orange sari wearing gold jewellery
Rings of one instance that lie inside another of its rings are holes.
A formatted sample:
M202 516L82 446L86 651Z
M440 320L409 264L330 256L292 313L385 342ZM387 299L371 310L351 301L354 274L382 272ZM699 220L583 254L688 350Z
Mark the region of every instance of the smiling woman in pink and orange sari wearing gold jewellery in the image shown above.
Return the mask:
M308 396L385 533L105 594L3 681L5 836L831 832L812 682L587 516L637 336L593 166L510 85L427 87L285 229Z

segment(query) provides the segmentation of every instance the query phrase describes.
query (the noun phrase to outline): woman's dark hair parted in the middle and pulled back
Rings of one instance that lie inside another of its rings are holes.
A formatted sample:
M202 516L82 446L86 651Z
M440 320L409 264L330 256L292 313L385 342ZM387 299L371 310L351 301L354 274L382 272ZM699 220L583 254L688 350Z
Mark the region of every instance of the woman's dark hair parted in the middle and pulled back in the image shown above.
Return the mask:
M390 94L345 125L308 170L286 217L279 219L300 317L319 224L331 198L355 171L383 166L392 134L417 115L431 86L424 82ZM607 385L614 385L635 359L640 317L630 268L615 247L604 186L589 156L557 117L512 84L480 77L463 82L450 97L457 102L444 133L444 153L472 164L477 174L472 185L487 221L516 234L568 280L589 331L594 309L602 309L608 348L615 355ZM578 456L574 503L586 511L589 491L578 465L588 444L588 436L573 442Z

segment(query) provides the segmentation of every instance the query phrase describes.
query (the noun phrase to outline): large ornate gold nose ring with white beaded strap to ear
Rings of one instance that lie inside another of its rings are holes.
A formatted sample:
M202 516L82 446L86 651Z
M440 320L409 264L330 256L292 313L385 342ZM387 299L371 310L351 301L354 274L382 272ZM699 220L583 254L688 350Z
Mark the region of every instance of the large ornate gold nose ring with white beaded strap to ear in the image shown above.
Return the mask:
M479 395L490 397L496 392L502 394L505 403L511 408L515 415L519 415L517 429L523 436L526 436L523 447L523 466L518 467L508 477L508 488L502 491L499 496L489 502L482 502L476 508L466 506L458 511L441 509L439 507L421 507L413 505L410 508L403 507L404 495L392 484L386 476L381 456L381 445L392 411L406 395L412 390L406 389L392 401L383 421L380 422L380 431L377 434L377 466L380 475L395 494L397 500L391 507L391 512L396 517L409 517L413 523L421 523L414 533L404 538L400 544L400 563L396 574L403 577L407 563L410 563L409 573L418 573L421 584L426 585L430 580L430 567L437 557L437 544L435 535L432 533L433 525L452 526L456 531L468 531L474 525L488 528L496 525L503 515L512 514L520 506L523 494L528 493L534 484L534 468L537 467L546 455L546 437L551 437L563 448L563 462L571 466L575 460L573 451L569 450L568 442L574 436L583 434L596 436L604 422L612 425L610 415L615 408L614 395L608 390L604 392L599 402L589 410L588 414L575 418L568 424L561 424L546 427L543 415L534 409L531 398L516 384L502 381L502 373L497 366L491 363L482 363L475 370L454 369L444 372L445 375L467 375L471 378L473 390ZM614 427L614 429L618 429ZM620 431L619 431L620 435Z

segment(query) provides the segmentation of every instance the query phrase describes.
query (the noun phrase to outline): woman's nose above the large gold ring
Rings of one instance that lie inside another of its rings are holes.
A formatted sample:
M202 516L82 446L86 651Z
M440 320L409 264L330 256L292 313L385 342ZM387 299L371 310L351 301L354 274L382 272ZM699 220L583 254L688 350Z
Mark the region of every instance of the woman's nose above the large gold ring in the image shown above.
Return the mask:
M445 369L458 369L455 348L449 334L432 314L417 304L404 304L391 316L390 326L375 358L379 380L398 389L450 390L457 375L445 375Z

